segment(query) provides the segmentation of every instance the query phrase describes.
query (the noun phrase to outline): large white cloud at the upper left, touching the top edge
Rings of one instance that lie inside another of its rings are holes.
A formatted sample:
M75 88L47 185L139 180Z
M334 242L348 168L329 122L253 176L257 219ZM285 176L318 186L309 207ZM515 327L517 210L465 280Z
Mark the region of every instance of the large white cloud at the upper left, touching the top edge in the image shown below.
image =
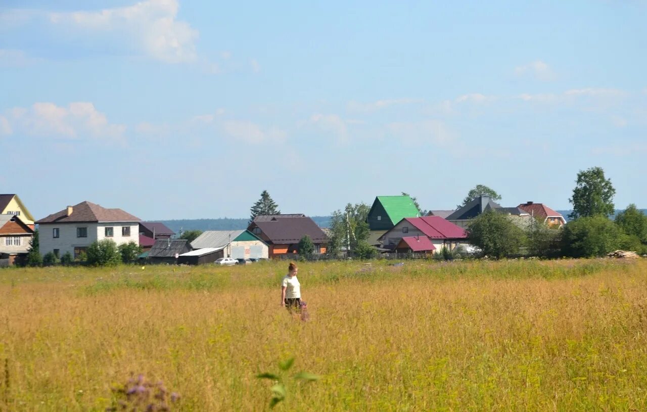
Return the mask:
M55 26L80 28L83 35L116 36L155 60L167 63L195 61L198 31L177 20L177 0L146 0L133 6L99 12L50 13Z

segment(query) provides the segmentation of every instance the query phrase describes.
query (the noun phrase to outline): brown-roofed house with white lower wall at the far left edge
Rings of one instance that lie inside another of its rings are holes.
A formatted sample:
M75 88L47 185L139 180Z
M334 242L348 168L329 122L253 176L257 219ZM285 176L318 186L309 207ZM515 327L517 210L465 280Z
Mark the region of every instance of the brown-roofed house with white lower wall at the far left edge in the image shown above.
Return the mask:
M23 263L34 229L17 215L0 215L0 266Z

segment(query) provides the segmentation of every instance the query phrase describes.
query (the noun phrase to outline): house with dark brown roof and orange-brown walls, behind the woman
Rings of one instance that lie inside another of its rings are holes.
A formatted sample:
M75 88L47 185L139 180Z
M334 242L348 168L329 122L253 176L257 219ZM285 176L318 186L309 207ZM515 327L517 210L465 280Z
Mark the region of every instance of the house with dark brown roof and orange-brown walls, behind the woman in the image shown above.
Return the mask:
M298 243L309 236L314 243L314 253L324 254L328 238L313 219L305 215L261 215L254 218L247 228L267 243L270 258L297 252Z

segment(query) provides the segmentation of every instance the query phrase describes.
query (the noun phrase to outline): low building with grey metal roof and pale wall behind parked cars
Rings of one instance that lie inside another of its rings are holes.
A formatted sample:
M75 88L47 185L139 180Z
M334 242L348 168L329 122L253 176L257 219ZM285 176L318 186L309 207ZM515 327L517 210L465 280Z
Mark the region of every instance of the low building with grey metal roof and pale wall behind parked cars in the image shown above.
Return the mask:
M248 230L206 230L191 243L193 249L214 248L216 259L269 257L269 246Z

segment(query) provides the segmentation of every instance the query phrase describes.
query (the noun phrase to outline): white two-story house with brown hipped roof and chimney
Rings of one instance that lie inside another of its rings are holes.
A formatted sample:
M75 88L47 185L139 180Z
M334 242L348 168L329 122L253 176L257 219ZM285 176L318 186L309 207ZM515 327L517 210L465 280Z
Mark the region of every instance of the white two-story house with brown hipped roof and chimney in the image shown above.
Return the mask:
M87 246L102 239L117 245L131 241L139 244L138 217L121 209L106 209L91 202L81 202L36 222L41 255L70 252L74 259L85 254Z

